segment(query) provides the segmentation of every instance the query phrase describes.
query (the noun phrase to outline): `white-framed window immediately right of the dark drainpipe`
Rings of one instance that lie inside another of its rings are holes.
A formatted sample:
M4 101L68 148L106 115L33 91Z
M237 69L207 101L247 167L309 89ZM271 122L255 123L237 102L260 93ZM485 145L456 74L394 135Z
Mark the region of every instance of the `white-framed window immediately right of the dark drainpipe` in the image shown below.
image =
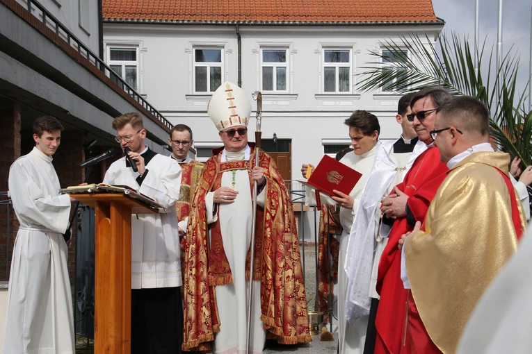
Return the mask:
M261 74L263 92L287 92L288 49L262 49Z

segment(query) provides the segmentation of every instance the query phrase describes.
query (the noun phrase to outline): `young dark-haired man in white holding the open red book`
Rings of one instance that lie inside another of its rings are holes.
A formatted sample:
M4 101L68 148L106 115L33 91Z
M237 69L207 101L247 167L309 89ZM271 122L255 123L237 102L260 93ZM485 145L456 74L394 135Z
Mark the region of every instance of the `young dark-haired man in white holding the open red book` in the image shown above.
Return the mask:
M344 315L344 303L346 301L347 277L344 271L344 262L346 260L346 249L348 236L353 225L355 212L358 210L362 190L368 182L369 172L373 166L373 159L378 149L378 136L380 133L379 121L376 116L365 110L355 110L351 117L346 119L345 124L349 126L349 136L354 151L346 153L341 163L355 169L362 174L349 195L337 191L338 196L327 197L321 194L321 201L325 204L339 204L340 224L342 233L340 239L340 252L338 255L338 342L339 353L360 353L364 350L364 338L368 318L362 317L352 324L346 321ZM305 177L308 165L303 165L301 172ZM314 189L307 187L305 203L315 205Z

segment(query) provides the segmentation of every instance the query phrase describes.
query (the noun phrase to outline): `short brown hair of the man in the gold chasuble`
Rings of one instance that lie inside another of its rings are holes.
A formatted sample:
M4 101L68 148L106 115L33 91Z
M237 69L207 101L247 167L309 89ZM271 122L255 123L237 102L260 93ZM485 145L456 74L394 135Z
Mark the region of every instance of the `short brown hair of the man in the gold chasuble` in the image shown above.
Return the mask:
M486 105L471 96L456 96L438 107L437 113L447 124L456 124L471 133L478 133L483 137L488 135L490 112Z

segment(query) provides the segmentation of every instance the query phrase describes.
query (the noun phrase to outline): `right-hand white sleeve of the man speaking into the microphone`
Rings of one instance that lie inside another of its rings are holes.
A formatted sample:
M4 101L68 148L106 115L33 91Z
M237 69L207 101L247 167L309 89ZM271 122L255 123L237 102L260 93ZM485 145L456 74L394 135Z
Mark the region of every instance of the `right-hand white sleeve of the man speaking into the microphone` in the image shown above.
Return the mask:
M150 168L147 167L147 175L138 192L161 204L166 209L164 212L175 212L175 203L179 200L181 175L181 166L174 160L170 160L168 165L163 167L159 176L150 174Z

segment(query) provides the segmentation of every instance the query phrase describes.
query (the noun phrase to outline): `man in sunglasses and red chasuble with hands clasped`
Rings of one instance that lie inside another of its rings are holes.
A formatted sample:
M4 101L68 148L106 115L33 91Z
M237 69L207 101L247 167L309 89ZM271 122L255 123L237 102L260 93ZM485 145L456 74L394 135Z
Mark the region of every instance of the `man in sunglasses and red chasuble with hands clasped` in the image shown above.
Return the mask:
M440 161L430 131L434 129L436 109L451 99L439 87L420 90L412 97L407 115L419 140L427 149L413 162L402 183L382 199L380 236L388 242L378 265L376 290L380 294L375 326L375 353L400 353L404 350L405 302L408 291L401 281L401 251L397 248L401 235L412 230L416 221L425 219L426 211L448 170ZM424 353L424 351L419 351Z

